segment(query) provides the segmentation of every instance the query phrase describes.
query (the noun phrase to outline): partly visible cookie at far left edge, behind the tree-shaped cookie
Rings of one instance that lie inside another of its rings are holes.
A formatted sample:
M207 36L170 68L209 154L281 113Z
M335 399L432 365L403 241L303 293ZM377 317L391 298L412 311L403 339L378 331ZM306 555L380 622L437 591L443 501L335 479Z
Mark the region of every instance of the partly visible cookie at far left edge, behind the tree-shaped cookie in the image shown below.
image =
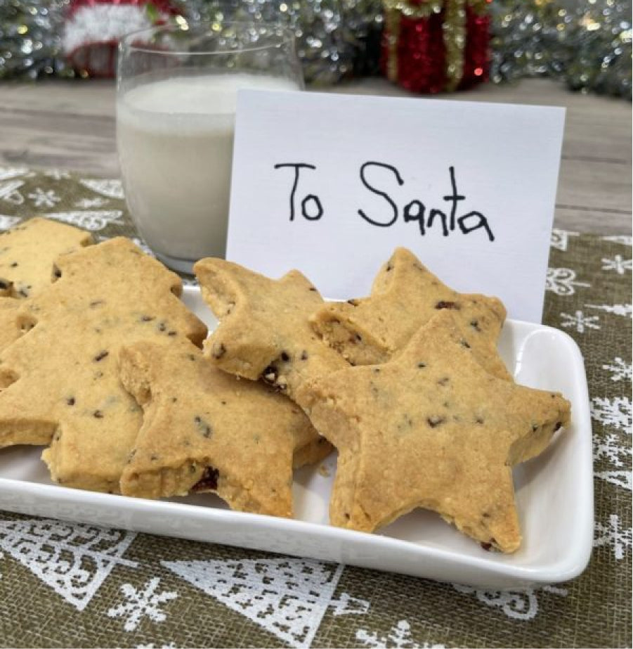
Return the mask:
M15 324L19 300L51 284L59 255L91 243L89 233L39 217L0 233L0 350L20 337Z

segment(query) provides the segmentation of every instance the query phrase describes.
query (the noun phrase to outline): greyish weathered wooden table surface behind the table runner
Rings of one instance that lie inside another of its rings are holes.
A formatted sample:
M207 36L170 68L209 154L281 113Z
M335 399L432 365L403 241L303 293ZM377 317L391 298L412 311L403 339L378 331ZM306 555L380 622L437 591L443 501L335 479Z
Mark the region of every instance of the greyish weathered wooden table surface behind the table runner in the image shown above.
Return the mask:
M379 78L328 90L410 96ZM448 98L566 107L555 226L604 234L631 232L632 113L627 101L573 93L550 79L486 84ZM0 165L118 176L114 83L0 84Z

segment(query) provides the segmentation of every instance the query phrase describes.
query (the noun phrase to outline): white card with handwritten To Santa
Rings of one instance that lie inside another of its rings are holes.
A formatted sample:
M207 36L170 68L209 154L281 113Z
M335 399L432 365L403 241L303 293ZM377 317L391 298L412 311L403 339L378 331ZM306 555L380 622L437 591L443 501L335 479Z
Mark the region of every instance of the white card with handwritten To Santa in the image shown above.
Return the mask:
M240 91L227 259L363 297L398 245L540 322L565 111ZM302 165L302 166L299 166Z

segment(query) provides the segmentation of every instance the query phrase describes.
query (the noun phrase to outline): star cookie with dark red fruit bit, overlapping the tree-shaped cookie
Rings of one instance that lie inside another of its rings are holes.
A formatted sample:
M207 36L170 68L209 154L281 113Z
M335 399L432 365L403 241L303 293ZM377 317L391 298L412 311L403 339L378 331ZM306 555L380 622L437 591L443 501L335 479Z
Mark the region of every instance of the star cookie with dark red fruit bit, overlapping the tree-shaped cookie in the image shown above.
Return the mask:
M119 375L145 411L121 477L126 496L215 491L233 509L289 517L293 456L332 451L299 406L212 366L190 342L123 347Z

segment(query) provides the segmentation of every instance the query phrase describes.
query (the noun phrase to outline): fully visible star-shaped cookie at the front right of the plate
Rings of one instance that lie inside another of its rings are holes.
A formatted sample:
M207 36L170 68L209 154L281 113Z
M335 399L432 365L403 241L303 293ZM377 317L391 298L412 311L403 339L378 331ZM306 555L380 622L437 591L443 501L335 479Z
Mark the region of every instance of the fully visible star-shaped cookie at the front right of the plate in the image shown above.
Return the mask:
M372 532L422 507L486 547L518 548L511 467L568 425L570 404L491 375L461 338L452 312L439 311L391 361L301 388L339 450L334 525Z

